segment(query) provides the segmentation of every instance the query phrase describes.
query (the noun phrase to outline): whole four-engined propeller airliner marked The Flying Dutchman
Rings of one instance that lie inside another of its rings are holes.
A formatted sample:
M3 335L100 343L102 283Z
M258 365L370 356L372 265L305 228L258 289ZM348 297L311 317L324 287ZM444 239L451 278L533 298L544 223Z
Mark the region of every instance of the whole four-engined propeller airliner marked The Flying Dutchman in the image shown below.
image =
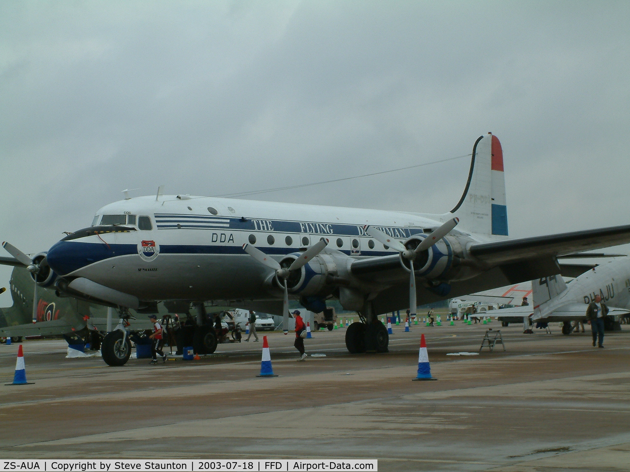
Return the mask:
M195 303L197 348L206 352L217 339L203 301L282 313L286 329L289 297L312 312L336 298L359 313L346 334L357 353L387 351L381 313L558 274L557 256L630 242L630 225L507 235L503 153L488 133L474 143L464 193L444 215L158 191L104 206L91 227L33 259L3 245L14 257L4 262L26 266L40 286L115 306L123 318L159 300ZM122 324L101 347L118 364L131 349Z

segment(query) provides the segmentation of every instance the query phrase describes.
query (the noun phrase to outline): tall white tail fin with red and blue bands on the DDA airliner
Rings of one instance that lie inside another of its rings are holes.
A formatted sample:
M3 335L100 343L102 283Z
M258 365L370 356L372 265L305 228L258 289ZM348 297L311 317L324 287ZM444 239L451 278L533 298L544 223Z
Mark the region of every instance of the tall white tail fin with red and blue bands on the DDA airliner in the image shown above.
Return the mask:
M466 188L450 213L471 233L508 235L503 150L492 133L475 141Z

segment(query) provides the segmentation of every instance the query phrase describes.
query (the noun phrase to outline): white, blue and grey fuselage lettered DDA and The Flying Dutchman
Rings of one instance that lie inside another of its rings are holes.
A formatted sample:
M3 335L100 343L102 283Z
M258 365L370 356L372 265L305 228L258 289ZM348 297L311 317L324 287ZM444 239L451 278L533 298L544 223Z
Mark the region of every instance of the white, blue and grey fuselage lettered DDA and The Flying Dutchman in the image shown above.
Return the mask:
M404 241L442 223L440 215L188 196L118 201L101 208L95 224L103 215L132 215L127 226L135 230L62 240L49 251L50 266L60 276L87 278L141 300L277 299L261 283L273 271L243 244L282 259L325 237L350 257L387 256L398 252L366 235L364 225ZM151 229L142 229L142 216Z

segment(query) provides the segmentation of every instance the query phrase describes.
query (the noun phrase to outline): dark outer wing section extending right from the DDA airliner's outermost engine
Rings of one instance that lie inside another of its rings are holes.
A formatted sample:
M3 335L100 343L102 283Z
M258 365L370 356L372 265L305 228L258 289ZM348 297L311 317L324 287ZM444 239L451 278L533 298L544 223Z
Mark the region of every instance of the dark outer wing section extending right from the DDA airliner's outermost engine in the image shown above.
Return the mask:
M630 225L478 243L471 245L469 252L477 259L495 266L525 259L564 256L627 242L630 242Z

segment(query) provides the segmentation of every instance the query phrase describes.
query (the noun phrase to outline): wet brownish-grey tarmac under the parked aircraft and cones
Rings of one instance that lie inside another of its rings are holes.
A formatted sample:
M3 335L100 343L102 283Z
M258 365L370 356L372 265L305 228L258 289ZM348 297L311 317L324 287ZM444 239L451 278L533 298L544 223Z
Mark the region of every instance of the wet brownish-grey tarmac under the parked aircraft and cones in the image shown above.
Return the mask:
M394 327L387 354L348 354L345 329L267 333L278 377L256 378L262 342L216 356L120 368L66 359L62 340L0 346L0 458L375 458L381 471L630 470L630 331L564 336L486 325ZM624 326L624 328L626 328ZM627 329L627 328L626 328ZM437 381L415 382L420 334Z

